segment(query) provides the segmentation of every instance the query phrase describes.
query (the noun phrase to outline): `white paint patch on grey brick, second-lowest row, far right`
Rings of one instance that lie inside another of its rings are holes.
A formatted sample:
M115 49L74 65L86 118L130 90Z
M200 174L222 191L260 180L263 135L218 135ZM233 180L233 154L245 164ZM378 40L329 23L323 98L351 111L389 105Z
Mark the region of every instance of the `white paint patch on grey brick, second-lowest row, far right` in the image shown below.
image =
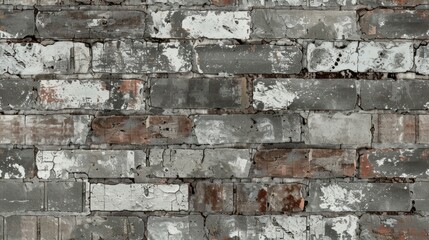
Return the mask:
M356 203L360 203L364 194L362 190L350 190L339 186L336 183L320 188L320 208L333 212L354 211Z

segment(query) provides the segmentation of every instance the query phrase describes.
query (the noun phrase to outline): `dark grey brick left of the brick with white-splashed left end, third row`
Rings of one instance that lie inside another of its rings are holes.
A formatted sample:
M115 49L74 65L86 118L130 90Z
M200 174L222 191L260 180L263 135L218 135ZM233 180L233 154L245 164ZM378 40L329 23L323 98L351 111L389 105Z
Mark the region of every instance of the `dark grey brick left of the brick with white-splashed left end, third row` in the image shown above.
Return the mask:
M158 108L243 109L249 106L246 90L245 78L152 78L150 105Z

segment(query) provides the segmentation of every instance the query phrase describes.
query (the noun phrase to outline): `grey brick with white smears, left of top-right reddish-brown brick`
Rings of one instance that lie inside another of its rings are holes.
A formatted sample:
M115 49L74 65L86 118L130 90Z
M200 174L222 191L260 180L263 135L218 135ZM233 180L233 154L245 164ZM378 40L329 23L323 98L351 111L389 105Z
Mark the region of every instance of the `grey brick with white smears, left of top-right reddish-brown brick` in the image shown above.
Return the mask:
M359 39L355 11L254 9L252 38Z

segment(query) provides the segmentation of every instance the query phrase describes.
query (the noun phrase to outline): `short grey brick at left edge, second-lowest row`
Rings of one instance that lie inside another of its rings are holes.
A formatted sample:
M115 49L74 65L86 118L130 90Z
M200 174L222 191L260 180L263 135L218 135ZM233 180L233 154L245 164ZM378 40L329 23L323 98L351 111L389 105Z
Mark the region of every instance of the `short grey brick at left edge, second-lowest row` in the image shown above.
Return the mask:
M0 182L0 212L42 211L43 199L43 183L12 180Z

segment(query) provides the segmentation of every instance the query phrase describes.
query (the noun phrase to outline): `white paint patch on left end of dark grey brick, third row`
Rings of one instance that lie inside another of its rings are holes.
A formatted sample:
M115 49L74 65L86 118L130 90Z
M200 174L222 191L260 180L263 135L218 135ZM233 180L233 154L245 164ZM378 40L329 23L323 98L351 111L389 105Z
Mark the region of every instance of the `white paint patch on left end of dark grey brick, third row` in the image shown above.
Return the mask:
M276 81L275 85L266 85L259 81L253 90L253 107L263 104L263 109L287 109L296 98L297 94L287 89L287 81Z

